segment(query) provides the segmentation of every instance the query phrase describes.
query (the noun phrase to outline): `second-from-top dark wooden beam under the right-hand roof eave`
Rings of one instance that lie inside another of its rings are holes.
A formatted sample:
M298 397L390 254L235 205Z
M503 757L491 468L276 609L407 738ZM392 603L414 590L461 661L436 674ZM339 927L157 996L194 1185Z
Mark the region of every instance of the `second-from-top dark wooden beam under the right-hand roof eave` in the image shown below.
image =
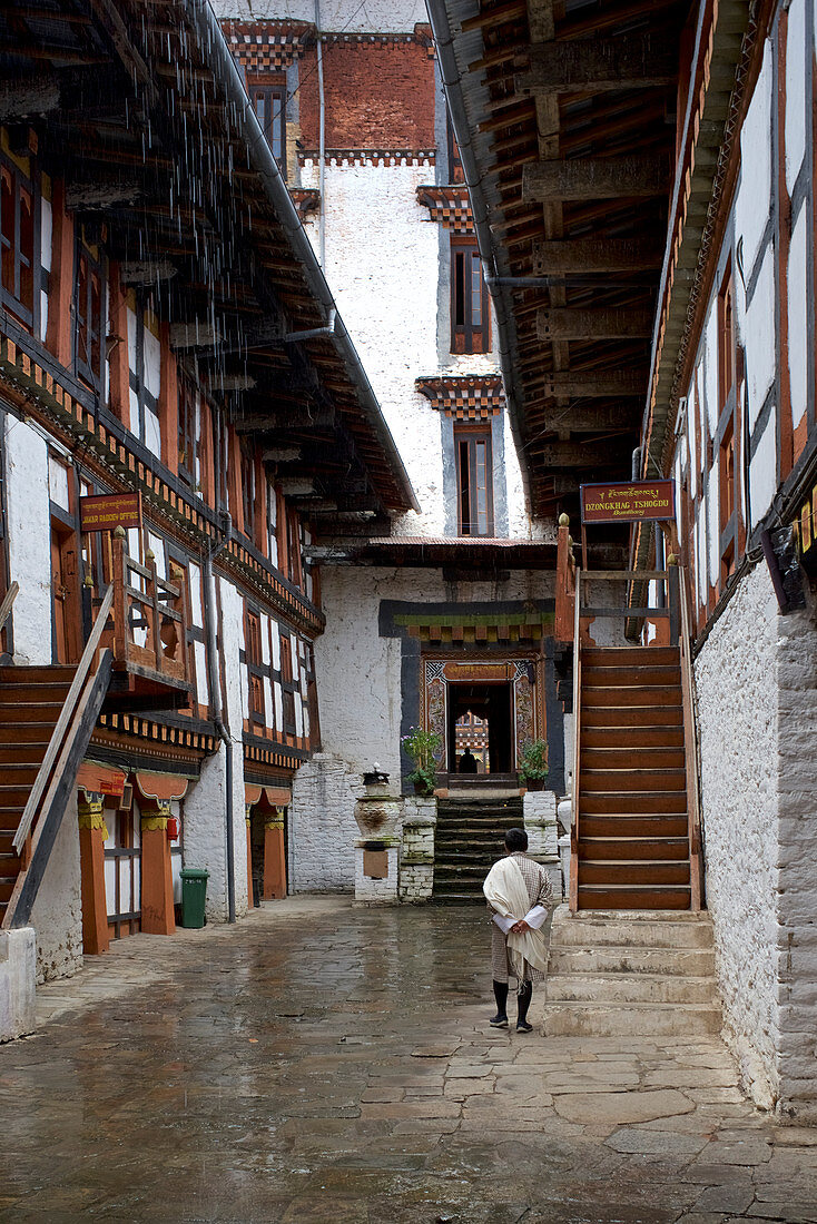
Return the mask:
M668 186L668 164L660 157L633 154L576 158L572 162L529 162L522 168L524 203L661 196Z

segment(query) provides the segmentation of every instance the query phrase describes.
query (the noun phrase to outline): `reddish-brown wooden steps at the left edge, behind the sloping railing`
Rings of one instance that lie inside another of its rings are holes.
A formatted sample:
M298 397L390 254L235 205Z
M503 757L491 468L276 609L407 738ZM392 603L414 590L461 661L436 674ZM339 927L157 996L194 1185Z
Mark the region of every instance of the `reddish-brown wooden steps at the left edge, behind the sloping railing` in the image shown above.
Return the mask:
M75 674L76 667L0 670L0 927L23 869L12 838Z

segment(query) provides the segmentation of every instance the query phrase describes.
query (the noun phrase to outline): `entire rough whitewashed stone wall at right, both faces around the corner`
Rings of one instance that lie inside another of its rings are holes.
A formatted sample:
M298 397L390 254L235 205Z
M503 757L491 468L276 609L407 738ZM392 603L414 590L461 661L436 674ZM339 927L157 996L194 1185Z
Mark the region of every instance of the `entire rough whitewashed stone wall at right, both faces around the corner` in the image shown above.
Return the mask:
M817 628L779 616L761 563L695 673L724 1033L758 1105L815 1120Z

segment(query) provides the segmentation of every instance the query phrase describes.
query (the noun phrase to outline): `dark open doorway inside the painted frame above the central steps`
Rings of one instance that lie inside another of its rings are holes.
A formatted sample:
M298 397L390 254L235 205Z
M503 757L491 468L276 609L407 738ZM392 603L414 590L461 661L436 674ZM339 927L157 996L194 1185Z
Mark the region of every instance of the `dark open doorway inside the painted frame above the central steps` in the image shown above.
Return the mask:
M447 747L452 774L511 774L513 685L448 684Z

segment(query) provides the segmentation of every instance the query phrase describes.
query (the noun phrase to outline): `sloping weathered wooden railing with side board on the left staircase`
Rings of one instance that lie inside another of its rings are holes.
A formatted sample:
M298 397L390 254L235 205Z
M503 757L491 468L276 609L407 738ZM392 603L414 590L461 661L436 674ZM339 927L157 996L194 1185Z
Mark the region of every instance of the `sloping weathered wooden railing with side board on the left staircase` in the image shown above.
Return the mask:
M109 649L100 650L100 640L113 601L111 584L102 600L91 636L12 838L13 849L20 856L22 867L2 919L2 927L6 929L26 927L31 920L67 799L76 786L77 770L108 692L114 659Z

